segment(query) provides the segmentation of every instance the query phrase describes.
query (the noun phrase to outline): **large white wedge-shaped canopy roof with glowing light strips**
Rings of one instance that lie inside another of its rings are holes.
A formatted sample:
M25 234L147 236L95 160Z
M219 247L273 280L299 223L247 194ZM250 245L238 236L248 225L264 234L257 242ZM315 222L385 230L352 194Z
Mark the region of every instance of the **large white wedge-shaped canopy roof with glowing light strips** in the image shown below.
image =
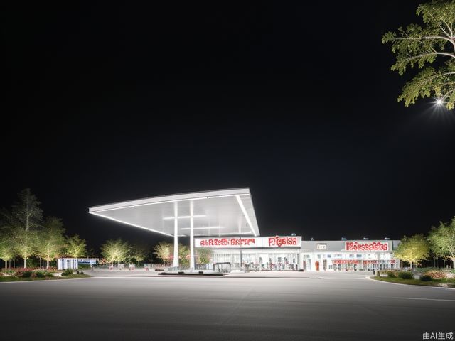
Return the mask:
M259 236L249 188L166 195L89 207L92 215L153 232L190 235L191 205L195 236Z

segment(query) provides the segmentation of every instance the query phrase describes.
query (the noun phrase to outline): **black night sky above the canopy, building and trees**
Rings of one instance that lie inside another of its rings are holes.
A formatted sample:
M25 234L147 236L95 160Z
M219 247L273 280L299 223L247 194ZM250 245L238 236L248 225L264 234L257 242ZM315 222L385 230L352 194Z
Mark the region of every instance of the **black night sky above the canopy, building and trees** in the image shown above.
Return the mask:
M398 103L380 41L420 1L156 2L4 9L0 207L29 187L95 249L163 237L87 207L198 190L249 187L264 236L455 215L455 112Z

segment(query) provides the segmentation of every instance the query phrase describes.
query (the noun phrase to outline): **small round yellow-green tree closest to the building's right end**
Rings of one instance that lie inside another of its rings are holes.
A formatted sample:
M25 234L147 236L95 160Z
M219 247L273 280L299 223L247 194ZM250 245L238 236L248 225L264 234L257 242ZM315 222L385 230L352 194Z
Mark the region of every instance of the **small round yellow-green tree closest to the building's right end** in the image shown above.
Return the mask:
M423 234L414 234L412 237L403 237L397 249L394 251L394 255L397 259L407 261L410 263L411 269L412 264L427 259L429 254L429 243L424 238Z

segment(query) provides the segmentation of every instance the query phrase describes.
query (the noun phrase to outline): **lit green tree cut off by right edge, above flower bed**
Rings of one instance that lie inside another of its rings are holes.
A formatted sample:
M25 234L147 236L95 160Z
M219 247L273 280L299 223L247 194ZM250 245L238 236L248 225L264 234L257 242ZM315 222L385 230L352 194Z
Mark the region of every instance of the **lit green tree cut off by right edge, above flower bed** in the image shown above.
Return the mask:
M434 254L450 259L455 270L455 217L449 223L432 227L428 239Z

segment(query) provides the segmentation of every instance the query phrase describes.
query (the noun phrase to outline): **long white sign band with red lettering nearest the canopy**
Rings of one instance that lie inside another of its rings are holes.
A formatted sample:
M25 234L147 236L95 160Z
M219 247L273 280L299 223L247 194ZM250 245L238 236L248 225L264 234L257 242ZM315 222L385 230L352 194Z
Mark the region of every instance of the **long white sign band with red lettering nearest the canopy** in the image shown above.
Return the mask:
M240 247L301 247L301 237L210 237L195 238L195 247L237 248Z

